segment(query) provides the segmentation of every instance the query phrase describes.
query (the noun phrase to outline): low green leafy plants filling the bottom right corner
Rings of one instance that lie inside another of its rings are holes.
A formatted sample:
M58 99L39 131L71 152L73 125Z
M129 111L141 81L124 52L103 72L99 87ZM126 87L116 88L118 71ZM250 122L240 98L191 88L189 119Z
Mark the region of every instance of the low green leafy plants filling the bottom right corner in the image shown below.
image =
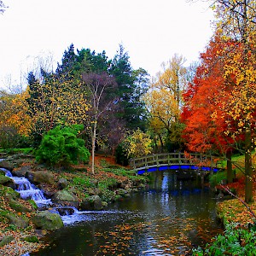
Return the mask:
M226 226L224 235L218 235L205 249L198 247L193 255L256 255L255 230L241 227L239 224Z

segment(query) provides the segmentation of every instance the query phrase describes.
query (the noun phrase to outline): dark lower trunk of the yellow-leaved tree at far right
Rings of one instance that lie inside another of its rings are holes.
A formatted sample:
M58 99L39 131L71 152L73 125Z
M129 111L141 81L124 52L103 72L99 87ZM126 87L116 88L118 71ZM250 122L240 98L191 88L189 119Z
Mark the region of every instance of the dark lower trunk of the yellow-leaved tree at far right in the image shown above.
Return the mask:
M248 125L247 125L248 126ZM245 201L253 201L253 168L252 168L252 140L251 130L247 127L245 132Z

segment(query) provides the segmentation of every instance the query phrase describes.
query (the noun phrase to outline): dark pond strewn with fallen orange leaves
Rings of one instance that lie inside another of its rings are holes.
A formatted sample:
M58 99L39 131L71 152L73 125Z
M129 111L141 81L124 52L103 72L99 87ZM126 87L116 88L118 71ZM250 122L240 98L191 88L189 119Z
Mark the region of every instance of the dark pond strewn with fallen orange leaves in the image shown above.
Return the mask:
M221 231L209 189L175 171L152 176L144 191L107 211L80 214L46 238L49 247L30 255L189 255Z

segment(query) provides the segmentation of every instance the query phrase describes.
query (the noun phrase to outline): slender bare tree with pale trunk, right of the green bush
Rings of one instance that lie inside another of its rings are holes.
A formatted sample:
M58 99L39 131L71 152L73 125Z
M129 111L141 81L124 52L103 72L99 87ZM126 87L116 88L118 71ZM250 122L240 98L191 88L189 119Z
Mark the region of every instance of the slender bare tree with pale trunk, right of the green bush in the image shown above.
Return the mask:
M116 87L115 80L108 73L84 73L83 81L86 89L90 91L90 104L92 106L91 118L91 172L95 173L95 148L96 148L96 130L98 121L103 113L109 108L113 108Z

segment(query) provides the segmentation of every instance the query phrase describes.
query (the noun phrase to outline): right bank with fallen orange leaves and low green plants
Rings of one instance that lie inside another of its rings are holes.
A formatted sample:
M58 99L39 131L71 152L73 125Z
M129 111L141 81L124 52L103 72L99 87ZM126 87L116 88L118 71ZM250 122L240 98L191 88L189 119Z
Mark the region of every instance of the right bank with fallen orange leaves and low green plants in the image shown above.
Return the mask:
M193 255L256 255L256 182L253 178L253 202L244 204L245 198L245 177L244 177L244 156L235 156L233 170L236 173L234 183L224 185L226 189L234 192L230 200L218 202L218 218L224 224L224 234L214 237L206 248L197 248ZM254 164L254 163L253 163ZM237 167L239 166L239 167ZM223 167L226 163L223 162ZM224 188L219 185L225 183L226 171L219 172L210 178L212 186L217 189Z

